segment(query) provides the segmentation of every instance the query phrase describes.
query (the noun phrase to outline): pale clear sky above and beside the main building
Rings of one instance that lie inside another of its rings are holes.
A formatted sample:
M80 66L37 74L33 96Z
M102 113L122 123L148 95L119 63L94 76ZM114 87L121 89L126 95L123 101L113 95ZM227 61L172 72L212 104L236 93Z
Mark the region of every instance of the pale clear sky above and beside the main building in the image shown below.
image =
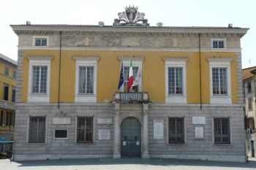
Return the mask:
M10 24L63 23L112 25L118 12L135 5L151 26L227 26L250 28L241 39L242 66L256 66L255 0L1 0L0 53L17 60L18 36Z

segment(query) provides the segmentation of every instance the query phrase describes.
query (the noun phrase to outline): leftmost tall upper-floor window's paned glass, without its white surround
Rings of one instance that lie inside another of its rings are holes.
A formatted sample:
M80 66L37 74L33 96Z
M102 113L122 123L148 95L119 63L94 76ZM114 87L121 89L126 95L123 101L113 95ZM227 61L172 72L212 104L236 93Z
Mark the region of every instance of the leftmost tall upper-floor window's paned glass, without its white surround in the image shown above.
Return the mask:
M48 66L33 66L32 93L47 93Z

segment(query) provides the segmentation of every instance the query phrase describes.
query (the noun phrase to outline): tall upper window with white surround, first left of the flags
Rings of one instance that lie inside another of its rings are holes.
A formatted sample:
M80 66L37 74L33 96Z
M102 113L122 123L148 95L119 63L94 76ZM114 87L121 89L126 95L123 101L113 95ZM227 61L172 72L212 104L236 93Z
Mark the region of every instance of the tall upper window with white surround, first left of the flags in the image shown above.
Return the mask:
M98 56L75 56L75 102L97 100L97 61Z

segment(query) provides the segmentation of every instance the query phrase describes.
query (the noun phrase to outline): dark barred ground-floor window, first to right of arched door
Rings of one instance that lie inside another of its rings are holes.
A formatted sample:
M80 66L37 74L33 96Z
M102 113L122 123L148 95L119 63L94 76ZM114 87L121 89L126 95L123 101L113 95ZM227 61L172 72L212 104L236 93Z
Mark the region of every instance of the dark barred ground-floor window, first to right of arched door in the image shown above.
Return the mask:
M184 117L169 117L169 144L184 144Z

